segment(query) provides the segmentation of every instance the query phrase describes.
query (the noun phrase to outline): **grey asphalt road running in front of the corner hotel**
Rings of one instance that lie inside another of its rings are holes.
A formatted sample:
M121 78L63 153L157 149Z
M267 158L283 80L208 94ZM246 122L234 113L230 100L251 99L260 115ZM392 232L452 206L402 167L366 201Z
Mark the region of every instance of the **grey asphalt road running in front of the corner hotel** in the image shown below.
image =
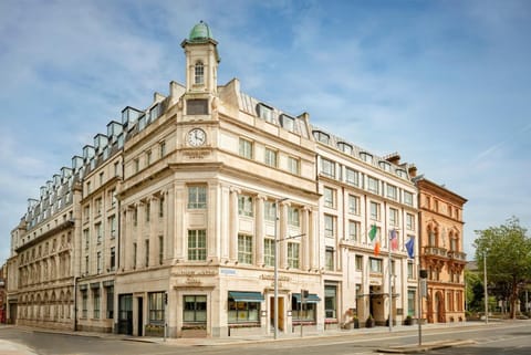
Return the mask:
M376 354L376 349L418 343L416 327L375 333L346 333L336 336L291 338L270 342L227 343L212 341L211 346L192 346L179 340L159 343L124 341L118 337L79 336L37 332L19 327L0 327L0 340L30 347L39 355L352 355ZM476 344L431 351L429 354L531 354L531 321L489 325L444 326L423 330L423 344L436 341L471 340ZM1 351L0 351L1 353Z

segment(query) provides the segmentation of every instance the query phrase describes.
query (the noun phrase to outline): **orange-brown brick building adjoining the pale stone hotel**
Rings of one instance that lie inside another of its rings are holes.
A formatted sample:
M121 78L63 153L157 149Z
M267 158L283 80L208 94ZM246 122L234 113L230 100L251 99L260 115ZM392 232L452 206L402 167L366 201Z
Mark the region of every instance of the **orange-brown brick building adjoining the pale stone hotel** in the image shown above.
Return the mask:
M423 317L429 323L465 320L462 208L467 200L424 176L418 187L420 265L427 271Z

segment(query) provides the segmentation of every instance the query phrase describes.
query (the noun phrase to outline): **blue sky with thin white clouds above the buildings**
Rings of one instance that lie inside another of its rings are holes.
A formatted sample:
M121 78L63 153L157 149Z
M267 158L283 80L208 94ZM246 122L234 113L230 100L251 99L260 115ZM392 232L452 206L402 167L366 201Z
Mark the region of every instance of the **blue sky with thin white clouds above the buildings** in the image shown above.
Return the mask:
M0 1L0 264L28 198L121 121L185 82L194 24L218 84L465 197L476 230L531 228L531 1Z

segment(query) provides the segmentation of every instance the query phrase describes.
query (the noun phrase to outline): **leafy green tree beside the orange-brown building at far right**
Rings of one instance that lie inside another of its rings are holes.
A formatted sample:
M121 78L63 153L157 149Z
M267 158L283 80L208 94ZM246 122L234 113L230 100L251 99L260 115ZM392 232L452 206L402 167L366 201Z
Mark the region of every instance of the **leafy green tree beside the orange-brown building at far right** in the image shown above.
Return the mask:
M531 239L527 229L512 217L506 225L475 231L475 259L483 271L487 258L488 284L510 303L511 319L517 315L518 291L531 280ZM485 271L483 271L485 272Z

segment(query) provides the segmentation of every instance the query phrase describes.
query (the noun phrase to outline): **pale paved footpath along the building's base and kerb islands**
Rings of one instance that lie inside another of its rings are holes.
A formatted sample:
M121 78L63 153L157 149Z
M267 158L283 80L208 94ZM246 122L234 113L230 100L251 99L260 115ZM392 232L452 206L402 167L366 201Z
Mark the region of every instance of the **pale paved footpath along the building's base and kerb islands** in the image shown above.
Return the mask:
M461 322L461 323L425 324L423 325L423 330L458 328L458 327L481 326L481 325L485 325L485 323ZM493 325L493 324L491 323L489 325ZM269 336L247 335L247 336L231 336L231 337L223 337L223 338L211 338L211 337L205 338L204 337L204 338L166 338L164 340L160 337L128 336L128 335L122 335L122 334L104 334L104 333L93 333L93 332L64 332L64 331L53 331L53 330L28 327L28 326L0 325L0 330L2 327L17 327L28 332L39 332L39 333L59 333L59 334L70 334L70 335L77 335L77 336L113 338L118 341L122 340L122 341L133 341L133 342L158 343L158 344L166 344L168 346L219 346L219 345L237 345L237 344L249 344L249 343L281 342L281 341L300 338L300 333L298 333L296 330L294 333L291 333L291 334L279 334L278 340L274 340L272 334ZM417 325L414 325L414 326L397 325L393 327L394 333L406 332L406 331L410 332L415 330L417 330ZM383 334L388 332L389 332L388 327L376 326L373 328L360 328L360 330L348 330L348 331L345 331L345 330L326 331L324 333L308 332L308 333L304 333L304 337L322 338L322 337L339 337L339 336L345 336L345 335L366 336L369 334ZM470 343L467 343L467 344L470 344ZM441 341L441 342L423 344L421 348L419 348L417 345L410 345L410 346L402 346L402 347L393 347L393 348L382 348L382 349L378 349L378 352L395 353L395 354L396 353L413 354L413 353L426 352L428 349L457 346L457 345L465 345L465 344L462 344L462 341L461 342ZM21 344L18 344L8 340L0 340L0 355L35 355L35 353Z

